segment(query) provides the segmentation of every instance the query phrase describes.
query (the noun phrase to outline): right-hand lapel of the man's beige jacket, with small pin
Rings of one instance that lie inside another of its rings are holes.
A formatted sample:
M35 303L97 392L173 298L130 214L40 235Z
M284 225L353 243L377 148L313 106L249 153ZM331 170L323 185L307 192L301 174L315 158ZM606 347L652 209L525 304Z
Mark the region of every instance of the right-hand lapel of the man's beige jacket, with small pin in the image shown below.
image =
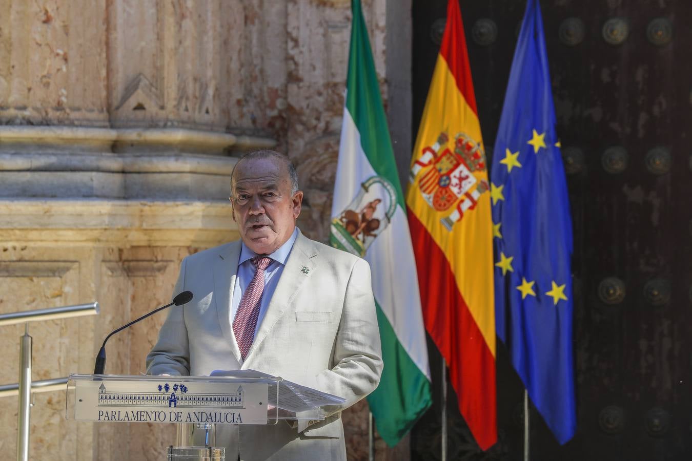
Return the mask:
M271 328L283 317L284 312L291 305L295 294L298 293L298 290L315 271L316 261L314 256L317 256L318 253L316 245L313 245L312 241L304 237L299 230L298 237L295 238L295 243L293 243L291 254L289 254L289 258L286 260L284 271L281 273L279 283L277 283L276 290L274 290L271 301L269 301L264 319L260 323L260 329L257 330L255 341L253 341L250 350L248 350L245 363L248 362L248 358L269 334Z

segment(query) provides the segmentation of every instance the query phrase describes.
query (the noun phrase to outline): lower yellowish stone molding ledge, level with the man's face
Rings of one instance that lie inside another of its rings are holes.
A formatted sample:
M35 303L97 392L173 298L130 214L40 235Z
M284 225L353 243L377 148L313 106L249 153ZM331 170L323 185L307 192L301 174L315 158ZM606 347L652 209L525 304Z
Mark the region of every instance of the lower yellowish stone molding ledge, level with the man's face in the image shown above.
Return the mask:
M237 238L228 202L0 200L7 244L213 247Z

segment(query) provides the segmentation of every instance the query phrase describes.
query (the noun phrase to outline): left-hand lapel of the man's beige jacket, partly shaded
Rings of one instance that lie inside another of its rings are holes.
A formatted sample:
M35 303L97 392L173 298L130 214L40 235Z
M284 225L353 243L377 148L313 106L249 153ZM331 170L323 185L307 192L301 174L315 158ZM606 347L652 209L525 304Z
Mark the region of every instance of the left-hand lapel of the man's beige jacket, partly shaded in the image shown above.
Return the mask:
M224 332L224 338L228 341L231 352L240 363L240 349L233 335L233 326L230 322L230 301L233 299L233 288L238 272L238 259L240 258L240 241L224 245L221 251L214 257L212 271L214 272L214 299L219 317L219 326Z

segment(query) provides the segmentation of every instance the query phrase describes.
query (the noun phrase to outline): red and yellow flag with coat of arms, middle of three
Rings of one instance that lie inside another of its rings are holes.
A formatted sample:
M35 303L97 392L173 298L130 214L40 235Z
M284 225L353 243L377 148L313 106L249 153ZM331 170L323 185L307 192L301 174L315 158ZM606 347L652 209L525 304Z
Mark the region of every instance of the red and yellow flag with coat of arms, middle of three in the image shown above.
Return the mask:
M482 449L498 438L489 189L462 15L449 0L406 203L426 328Z

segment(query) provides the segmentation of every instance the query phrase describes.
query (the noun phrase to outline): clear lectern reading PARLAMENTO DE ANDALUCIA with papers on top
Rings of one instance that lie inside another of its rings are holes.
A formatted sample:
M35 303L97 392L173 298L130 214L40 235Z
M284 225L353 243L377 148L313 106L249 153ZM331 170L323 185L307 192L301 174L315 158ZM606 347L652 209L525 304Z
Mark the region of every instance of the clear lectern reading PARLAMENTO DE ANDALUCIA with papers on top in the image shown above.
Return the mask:
M215 375L216 374L216 375ZM212 376L70 375L66 417L91 422L178 424L168 460L224 461L216 424L277 424L325 419L344 399L254 370ZM203 445L192 445L192 440Z

